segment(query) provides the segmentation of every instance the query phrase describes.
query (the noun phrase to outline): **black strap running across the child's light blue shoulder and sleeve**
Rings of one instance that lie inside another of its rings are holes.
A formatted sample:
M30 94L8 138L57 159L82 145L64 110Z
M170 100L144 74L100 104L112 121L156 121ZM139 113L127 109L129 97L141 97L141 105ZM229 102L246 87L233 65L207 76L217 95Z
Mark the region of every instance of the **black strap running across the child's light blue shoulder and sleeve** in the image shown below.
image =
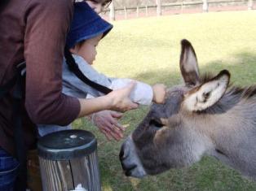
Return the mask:
M66 63L68 64L68 68L70 71L72 71L80 80L82 80L86 85L90 85L90 87L96 89L97 91L104 93L104 94L108 94L110 92L112 92L112 89L108 89L107 87L105 87L104 85L99 85L97 83L95 83L92 80L89 80L79 69L79 67L77 66L77 63L75 61L75 59L73 59L72 54L70 53L70 51L68 50L68 48L65 48L65 59L66 59Z

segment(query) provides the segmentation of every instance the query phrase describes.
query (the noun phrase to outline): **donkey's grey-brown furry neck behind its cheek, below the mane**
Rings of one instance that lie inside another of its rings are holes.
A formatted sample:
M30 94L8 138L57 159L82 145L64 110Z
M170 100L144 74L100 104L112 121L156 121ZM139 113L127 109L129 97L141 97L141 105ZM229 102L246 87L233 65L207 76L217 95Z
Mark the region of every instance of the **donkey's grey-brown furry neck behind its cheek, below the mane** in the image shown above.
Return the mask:
M256 99L240 99L227 107L220 105L225 104L224 98L218 103L218 108L226 110L197 115L199 119L194 120L194 128L209 137L214 145L207 150L210 155L246 176L256 177ZM234 102L227 101L229 104Z

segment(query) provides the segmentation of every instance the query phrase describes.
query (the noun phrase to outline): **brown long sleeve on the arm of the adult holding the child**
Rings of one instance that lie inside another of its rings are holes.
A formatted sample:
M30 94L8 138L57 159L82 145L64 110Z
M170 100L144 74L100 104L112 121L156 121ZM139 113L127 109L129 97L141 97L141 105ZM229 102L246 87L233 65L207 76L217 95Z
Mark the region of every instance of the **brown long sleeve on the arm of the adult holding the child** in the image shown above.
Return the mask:
M36 124L70 124L80 111L77 98L61 93L64 44L72 19L71 0L29 1L24 18L25 106Z

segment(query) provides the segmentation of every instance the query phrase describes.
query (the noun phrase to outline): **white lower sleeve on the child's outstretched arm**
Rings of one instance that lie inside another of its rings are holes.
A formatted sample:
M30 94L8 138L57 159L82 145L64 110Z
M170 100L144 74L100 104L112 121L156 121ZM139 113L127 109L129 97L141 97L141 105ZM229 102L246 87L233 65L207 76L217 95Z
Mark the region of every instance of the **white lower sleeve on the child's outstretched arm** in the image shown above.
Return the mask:
M116 78L112 79L112 89L121 89L126 87L131 81L135 81L136 85L135 88L130 93L130 99L133 102L139 103L140 105L150 105L153 98L153 91L152 86L147 85L143 82L130 80L130 79L123 79L123 78Z

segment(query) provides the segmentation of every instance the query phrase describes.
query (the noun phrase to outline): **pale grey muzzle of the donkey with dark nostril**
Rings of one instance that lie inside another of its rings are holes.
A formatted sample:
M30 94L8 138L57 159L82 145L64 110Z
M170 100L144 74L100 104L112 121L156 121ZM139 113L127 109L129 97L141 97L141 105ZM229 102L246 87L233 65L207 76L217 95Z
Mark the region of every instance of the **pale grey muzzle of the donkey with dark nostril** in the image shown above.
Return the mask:
M147 175L136 153L135 144L131 137L127 137L126 141L121 145L119 159L126 176L142 178Z

